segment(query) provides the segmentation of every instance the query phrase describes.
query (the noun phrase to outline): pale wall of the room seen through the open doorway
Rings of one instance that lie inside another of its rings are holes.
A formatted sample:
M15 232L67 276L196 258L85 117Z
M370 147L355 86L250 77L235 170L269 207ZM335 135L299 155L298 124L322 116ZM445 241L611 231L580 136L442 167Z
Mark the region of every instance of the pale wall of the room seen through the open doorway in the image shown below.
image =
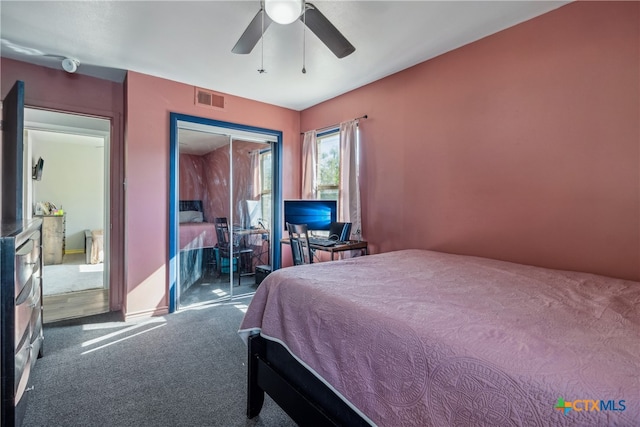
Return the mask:
M33 203L53 202L66 213L66 250L84 249L84 230L104 228L104 140L30 130L32 160L44 160L33 181Z

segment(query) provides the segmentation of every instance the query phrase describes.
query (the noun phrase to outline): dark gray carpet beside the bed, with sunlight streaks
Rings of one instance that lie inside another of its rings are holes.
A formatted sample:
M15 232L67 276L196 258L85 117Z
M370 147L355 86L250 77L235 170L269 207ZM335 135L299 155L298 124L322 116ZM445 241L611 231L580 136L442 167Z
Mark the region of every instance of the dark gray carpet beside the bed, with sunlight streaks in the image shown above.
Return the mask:
M247 420L250 301L120 322L111 314L45 325L23 426L295 426L268 397Z

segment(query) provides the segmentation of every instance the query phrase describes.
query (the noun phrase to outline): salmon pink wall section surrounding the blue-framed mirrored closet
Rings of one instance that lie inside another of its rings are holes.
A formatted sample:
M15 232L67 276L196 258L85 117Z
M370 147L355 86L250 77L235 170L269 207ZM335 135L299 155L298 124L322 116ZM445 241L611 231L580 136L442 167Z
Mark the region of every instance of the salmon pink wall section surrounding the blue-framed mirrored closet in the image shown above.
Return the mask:
M300 187L300 113L225 95L224 111L196 107L194 87L127 74L128 317L168 308L169 113L177 112L283 132L283 197ZM215 90L215 88L212 88Z

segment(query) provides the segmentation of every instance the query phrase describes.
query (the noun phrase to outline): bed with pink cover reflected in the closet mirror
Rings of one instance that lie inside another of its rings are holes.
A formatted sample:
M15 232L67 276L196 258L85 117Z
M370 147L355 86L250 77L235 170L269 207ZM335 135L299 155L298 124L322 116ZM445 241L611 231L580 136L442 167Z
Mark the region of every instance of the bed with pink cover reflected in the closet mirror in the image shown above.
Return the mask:
M180 292L204 274L217 243L215 225L205 221L202 200L179 202Z

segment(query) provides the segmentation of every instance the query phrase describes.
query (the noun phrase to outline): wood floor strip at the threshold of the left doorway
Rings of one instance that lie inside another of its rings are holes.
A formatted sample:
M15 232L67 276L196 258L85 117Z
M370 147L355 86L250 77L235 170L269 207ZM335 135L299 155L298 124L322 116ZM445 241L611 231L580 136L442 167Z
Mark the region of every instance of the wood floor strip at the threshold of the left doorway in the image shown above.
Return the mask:
M91 316L109 311L109 291L91 289L49 295L43 299L44 323L75 317Z

